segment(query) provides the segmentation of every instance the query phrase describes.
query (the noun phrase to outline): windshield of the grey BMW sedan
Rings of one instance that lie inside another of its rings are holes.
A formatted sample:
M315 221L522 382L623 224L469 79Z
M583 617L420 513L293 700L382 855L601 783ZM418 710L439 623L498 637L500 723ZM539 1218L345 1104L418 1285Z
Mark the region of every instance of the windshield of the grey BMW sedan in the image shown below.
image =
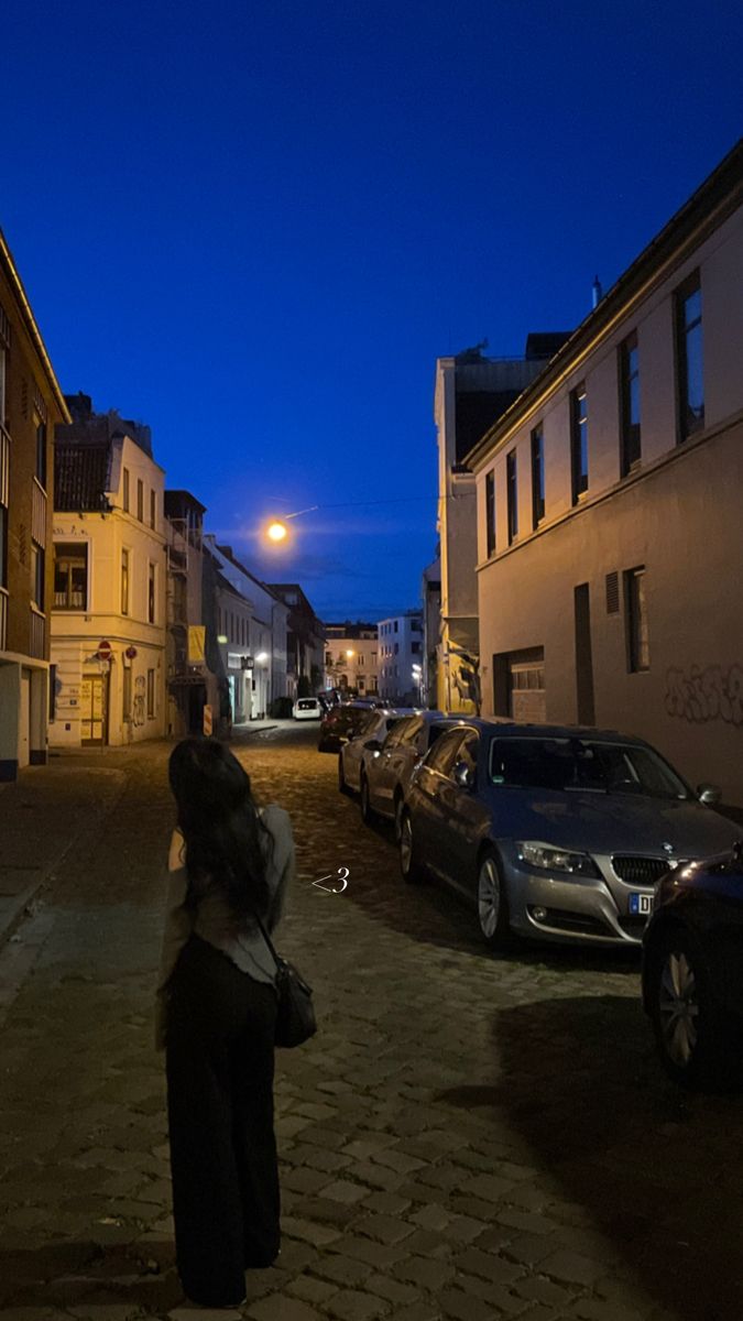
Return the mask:
M594 738L493 738L490 781L520 789L689 798L652 748Z

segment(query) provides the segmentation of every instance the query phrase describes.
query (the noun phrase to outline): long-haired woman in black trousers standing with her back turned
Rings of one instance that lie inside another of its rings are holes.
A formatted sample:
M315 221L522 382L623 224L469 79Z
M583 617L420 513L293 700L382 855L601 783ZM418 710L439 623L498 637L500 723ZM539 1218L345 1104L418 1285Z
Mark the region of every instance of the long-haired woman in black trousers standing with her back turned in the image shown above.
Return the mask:
M193 1303L245 1301L245 1271L279 1252L271 931L293 873L291 822L259 811L214 740L171 754L169 856L157 1045L165 1049L176 1256Z

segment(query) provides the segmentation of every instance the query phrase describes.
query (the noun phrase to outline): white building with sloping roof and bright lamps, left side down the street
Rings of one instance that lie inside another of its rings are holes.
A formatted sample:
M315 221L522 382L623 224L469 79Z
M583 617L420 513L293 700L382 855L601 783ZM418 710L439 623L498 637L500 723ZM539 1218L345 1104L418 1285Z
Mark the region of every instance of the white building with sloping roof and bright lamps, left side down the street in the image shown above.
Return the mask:
M233 723L262 719L287 694L288 606L235 559L204 538L217 567L215 629Z

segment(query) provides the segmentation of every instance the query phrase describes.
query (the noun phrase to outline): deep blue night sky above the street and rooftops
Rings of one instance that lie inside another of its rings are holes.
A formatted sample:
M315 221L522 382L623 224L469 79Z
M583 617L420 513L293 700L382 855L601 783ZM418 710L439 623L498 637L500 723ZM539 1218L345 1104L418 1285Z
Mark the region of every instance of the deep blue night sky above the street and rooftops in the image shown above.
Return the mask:
M576 325L740 136L734 0L5 0L1 42L62 388L325 618L418 602L436 357Z

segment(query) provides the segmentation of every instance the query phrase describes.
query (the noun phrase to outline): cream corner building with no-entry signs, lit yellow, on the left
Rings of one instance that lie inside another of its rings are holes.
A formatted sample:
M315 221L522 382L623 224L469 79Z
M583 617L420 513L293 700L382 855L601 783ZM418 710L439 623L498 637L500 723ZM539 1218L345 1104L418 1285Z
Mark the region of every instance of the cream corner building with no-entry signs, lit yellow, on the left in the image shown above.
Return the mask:
M94 413L86 395L67 404L54 460L49 741L115 746L165 732L164 473L147 427Z

